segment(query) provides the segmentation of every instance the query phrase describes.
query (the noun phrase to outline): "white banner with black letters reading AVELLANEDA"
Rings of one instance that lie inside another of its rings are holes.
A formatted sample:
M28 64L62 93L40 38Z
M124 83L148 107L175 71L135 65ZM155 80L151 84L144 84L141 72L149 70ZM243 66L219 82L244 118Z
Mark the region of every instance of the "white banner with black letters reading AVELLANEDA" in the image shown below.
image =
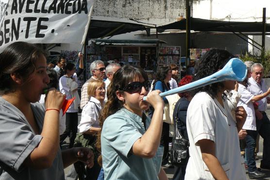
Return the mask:
M0 0L0 52L16 41L83 43L93 3L94 0Z

